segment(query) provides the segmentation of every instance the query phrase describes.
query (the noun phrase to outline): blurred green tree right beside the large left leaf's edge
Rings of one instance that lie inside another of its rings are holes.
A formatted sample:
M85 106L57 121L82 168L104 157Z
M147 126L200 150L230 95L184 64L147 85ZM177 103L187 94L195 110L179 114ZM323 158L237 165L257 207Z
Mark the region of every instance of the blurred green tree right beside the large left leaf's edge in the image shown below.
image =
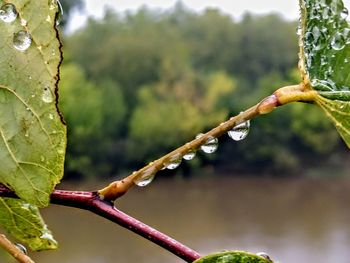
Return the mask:
M60 108L68 125L67 169L70 174L111 174L114 141L120 135L125 106L122 93L111 81L96 85L74 64L61 71ZM117 160L118 156L114 156Z

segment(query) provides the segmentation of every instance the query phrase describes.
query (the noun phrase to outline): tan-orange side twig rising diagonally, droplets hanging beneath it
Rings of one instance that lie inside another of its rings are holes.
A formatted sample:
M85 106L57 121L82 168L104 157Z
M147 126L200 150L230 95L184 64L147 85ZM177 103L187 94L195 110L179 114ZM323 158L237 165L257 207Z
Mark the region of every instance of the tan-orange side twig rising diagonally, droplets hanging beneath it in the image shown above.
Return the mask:
M238 124L251 120L259 115L270 113L278 106L295 101L312 102L315 100L316 95L317 92L311 90L304 83L280 88L271 96L263 99L260 103L244 112L241 112L237 116L230 118L228 121L221 123L200 138L196 138L161 157L160 159L149 163L142 169L133 172L123 180L115 181L105 188L99 190L99 196L104 200L116 200L124 195L131 187L133 187L134 182L142 178L144 175L149 175L150 173L154 175L156 172L166 167L166 164L171 163L174 158L182 158L182 156L188 152L197 151L210 138L218 138L232 130L232 128Z

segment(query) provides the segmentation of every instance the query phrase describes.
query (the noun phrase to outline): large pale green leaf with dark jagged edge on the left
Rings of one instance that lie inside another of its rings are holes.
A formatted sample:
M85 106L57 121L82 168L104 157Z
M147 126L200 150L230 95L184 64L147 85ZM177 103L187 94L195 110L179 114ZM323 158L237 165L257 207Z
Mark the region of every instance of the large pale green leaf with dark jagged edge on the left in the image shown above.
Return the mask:
M43 207L63 176L66 148L56 107L57 2L0 0L0 6L0 182Z

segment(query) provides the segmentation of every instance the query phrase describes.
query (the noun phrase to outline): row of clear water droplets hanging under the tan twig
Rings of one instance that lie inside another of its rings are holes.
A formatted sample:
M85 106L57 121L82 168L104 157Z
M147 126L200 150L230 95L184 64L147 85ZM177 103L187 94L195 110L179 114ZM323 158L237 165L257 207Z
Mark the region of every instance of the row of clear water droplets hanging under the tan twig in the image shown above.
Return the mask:
M236 125L227 134L232 140L241 141L247 137L249 130L250 130L250 121L248 120ZM196 136L196 139L200 139L203 136L204 134L200 133ZM216 152L216 150L218 149L218 146L219 146L218 139L215 137L209 137L206 140L206 142L200 146L199 149L203 153L211 154ZM163 169L174 170L180 166L180 164L182 163L182 160L191 161L196 157L196 154L197 154L196 149L190 149L184 155L181 155L179 153L175 154L172 157L170 157L169 160L164 164L162 170ZM143 171L142 174L134 180L134 183L140 187L147 186L153 181L156 173L157 173L157 169L153 166L153 163L150 163L149 168Z

